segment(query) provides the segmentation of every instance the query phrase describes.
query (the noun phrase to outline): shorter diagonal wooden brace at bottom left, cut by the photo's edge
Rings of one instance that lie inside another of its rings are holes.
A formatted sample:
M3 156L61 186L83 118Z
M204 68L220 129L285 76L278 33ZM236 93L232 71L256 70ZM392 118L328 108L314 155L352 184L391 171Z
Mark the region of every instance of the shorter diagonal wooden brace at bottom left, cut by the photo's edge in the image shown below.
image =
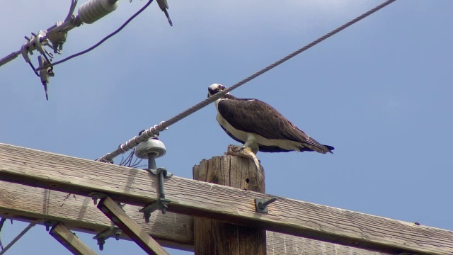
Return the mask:
M65 246L72 254L77 255L96 255L90 247L82 242L71 230L64 227L61 223L57 223L49 232L52 237Z

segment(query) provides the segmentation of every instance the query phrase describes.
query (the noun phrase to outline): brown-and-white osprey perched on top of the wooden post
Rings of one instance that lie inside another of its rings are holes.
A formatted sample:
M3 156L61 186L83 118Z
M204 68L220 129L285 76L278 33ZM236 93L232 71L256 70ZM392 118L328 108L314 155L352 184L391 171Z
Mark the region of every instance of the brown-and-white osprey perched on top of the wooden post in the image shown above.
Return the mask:
M207 97L224 91L225 86L212 84ZM275 108L253 98L236 98L226 94L215 101L217 122L231 138L260 152L319 152L332 153L334 149L321 145L296 127Z

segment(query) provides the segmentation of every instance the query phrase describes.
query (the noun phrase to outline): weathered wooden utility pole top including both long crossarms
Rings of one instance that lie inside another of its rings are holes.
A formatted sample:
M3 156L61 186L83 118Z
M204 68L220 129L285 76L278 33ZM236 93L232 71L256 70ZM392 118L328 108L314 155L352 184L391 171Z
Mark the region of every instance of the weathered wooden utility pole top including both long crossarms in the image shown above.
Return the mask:
M0 144L0 217L46 226L60 222L71 231L99 235L111 229L109 218L93 205L93 198L104 194L127 203L122 209L128 217L159 244L177 249L195 251L197 242L197 247L212 249L207 254L264 254L259 234L266 229L268 254L452 255L452 231L251 191L264 191L264 182L257 184L262 177L254 163L217 158L203 160L194 169L195 177L212 183L178 176L164 179L168 210L165 215L153 212L153 223L147 224L139 208L161 198L160 181L148 171ZM214 174L217 171L221 174ZM33 199L24 194L33 194ZM268 213L257 212L257 201L260 208L259 201L265 205L272 200ZM216 227L208 235L193 231L193 217L246 227L236 228L241 234ZM131 239L125 232L119 238Z

